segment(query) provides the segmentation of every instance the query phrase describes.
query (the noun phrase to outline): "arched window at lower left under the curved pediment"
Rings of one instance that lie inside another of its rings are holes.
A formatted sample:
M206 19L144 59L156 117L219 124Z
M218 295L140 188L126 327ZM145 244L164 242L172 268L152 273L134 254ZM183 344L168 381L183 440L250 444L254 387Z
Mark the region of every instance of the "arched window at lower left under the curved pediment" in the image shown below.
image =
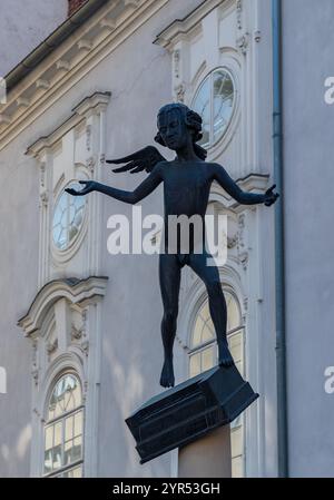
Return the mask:
M82 477L84 406L79 379L63 374L55 384L45 424L43 474Z

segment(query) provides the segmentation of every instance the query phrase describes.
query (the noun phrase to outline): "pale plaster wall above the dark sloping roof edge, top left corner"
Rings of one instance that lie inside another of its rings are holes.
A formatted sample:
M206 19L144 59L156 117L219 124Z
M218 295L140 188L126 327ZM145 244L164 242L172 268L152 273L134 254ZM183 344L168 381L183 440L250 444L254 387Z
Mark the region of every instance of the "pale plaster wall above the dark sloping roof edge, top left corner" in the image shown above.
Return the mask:
M1 0L0 76L7 75L67 18L67 0Z

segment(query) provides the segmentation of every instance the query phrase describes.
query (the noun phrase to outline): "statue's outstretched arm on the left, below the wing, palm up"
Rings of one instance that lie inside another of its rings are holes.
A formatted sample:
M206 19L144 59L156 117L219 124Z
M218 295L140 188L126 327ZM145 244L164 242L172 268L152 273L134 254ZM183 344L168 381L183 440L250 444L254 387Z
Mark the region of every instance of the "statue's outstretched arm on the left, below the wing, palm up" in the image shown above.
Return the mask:
M111 196L111 198L135 205L154 192L161 182L161 170L159 165L157 165L150 175L134 192L117 189L111 186L106 186L105 184L96 183L95 180L80 180L80 184L85 187L79 192L72 188L66 190L72 196L84 196L92 192L104 193L105 195Z

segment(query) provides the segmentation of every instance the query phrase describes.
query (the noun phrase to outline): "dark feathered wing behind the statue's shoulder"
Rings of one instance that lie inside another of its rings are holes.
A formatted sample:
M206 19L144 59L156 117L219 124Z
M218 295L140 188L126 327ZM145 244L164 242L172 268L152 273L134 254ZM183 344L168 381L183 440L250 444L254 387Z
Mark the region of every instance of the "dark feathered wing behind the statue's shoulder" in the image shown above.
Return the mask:
M125 156L124 158L107 159L107 164L126 164L122 167L115 168L112 171L130 171L130 174L137 174L137 171L146 170L150 173L159 161L166 161L163 155L154 146L147 146L132 155Z

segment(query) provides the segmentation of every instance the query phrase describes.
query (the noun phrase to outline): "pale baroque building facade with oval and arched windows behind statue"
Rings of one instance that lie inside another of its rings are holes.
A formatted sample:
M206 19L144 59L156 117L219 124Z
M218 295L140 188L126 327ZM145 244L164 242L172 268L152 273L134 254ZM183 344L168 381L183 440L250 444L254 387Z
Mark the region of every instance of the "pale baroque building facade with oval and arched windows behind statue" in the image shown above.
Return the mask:
M208 160L224 165L244 190L264 193L274 184L272 2L77 3L68 18L68 6L59 6L63 22L45 41L36 38L41 43L7 75L0 110L0 365L7 373L0 476L177 477L177 451L139 465L125 424L160 392L158 256L110 255L110 216L127 216L132 228L132 207L98 194L70 198L65 188L96 179L132 190L146 174L112 174L106 158L154 144L157 110L170 101L202 114ZM334 364L333 280L323 233L330 212L313 190L322 197L332 171L331 107L323 98L328 48L322 73L308 75L310 86L303 78L310 53L317 60L333 37L326 20L334 12L324 0L327 9L296 37L314 7L282 3L287 459L291 476L328 476L333 403L324 371ZM327 130L321 176L312 116L318 143ZM308 210L318 212L306 210L305 223L306 196L313 196ZM161 187L140 206L143 217L161 214ZM261 394L232 425L233 476L276 477L275 210L240 206L215 185L208 212L227 216L228 258L219 274L228 339L239 371ZM179 311L177 383L217 356L206 291L188 268Z

